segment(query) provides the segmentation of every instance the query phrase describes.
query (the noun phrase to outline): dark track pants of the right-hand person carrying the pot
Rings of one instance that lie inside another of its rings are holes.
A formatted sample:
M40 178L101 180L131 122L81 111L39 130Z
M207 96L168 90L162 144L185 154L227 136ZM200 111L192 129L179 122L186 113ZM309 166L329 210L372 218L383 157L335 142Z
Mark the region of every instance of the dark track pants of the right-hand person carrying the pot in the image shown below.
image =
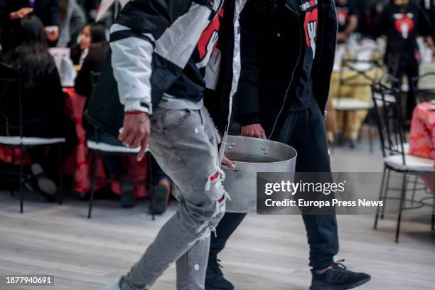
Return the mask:
M303 111L289 112L277 141L293 146L298 152L297 172L331 171L325 123L317 104ZM216 228L218 237L212 235L209 259L216 259L243 218L244 213L225 213ZM310 266L326 269L338 253L335 215L304 215L302 218L310 246Z

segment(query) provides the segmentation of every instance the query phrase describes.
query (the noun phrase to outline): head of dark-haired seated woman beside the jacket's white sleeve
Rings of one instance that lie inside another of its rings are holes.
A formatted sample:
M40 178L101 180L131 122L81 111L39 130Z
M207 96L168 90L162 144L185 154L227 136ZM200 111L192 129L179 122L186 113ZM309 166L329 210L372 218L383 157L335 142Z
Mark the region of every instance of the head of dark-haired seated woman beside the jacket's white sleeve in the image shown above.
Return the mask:
M75 65L82 65L92 43L107 41L106 29L101 23L90 23L80 34L80 41L71 48L71 60Z

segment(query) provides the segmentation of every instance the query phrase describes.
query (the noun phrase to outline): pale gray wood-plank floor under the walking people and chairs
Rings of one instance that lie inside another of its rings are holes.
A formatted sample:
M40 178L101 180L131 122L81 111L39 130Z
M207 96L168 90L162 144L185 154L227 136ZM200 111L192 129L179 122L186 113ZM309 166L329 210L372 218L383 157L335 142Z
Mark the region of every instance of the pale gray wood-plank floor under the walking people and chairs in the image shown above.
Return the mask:
M380 162L376 155L371 158ZM0 286L1 290L102 289L127 272L176 210L172 203L165 215L151 221L146 202L123 210L114 201L99 201L94 217L88 220L87 204L75 200L61 206L28 201L23 215L17 205L9 193L0 193L0 276L52 274L55 286ZM377 231L372 230L372 216L338 217L337 258L345 258L355 271L372 274L370 284L360 289L435 289L435 233L425 214L429 212L405 215L398 245L394 243L394 217L382 220ZM309 286L308 246L299 216L248 216L221 259L236 289L302 290ZM153 289L175 289L174 267Z

